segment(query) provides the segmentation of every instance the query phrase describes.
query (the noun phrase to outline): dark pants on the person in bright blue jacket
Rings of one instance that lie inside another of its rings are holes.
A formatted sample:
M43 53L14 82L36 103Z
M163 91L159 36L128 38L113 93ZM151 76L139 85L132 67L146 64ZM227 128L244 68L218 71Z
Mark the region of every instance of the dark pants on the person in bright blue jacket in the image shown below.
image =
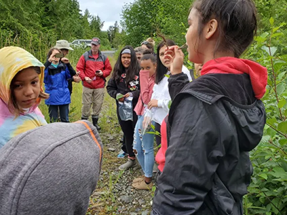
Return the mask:
M58 108L60 111L60 119L63 123L69 123L69 104L48 105L50 123L58 122Z

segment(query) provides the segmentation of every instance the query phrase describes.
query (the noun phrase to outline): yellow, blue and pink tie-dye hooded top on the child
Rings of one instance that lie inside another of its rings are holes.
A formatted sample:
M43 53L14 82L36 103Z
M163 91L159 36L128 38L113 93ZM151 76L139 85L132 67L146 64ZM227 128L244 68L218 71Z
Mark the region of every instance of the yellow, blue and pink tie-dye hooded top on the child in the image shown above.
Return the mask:
M25 113L16 117L9 111L10 86L16 74L28 67L41 68L39 74L42 86L44 65L28 51L19 47L4 47L0 49L0 149L13 137L31 129L46 125L41 111L37 108L40 99Z

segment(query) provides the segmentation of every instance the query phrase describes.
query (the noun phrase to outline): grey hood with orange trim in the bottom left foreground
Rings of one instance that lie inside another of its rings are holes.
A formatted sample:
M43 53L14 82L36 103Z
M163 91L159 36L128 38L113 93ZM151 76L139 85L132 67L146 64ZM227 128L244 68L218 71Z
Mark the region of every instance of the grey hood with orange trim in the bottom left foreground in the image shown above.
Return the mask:
M88 121L53 123L0 149L0 214L85 214L103 145Z

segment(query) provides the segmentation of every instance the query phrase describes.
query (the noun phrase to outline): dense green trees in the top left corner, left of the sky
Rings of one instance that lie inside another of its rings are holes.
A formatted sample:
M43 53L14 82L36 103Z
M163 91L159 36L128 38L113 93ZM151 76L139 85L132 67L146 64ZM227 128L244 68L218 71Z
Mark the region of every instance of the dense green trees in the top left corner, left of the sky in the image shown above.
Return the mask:
M46 45L52 47L59 39L71 42L98 36L102 46L111 48L107 33L101 31L103 25L101 18L91 16L88 10L82 14L77 0L0 0L0 42L11 44L7 40L20 37L28 46L31 40L32 52L37 52L36 44L42 42L39 37L49 37Z

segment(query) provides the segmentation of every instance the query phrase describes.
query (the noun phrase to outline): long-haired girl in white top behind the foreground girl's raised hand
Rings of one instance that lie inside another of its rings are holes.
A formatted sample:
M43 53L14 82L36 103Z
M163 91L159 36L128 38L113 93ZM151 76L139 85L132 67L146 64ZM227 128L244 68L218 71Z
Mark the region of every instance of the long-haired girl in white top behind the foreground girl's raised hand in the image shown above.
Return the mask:
M152 99L148 104L149 109L153 109L153 121L155 122L155 130L160 132L160 127L162 121L169 112L168 104L171 100L168 92L168 77L166 75L170 74L170 61L164 59L164 52L168 46L175 45L173 40L168 39L166 43L162 41L157 47L157 71L156 80L153 89ZM187 75L188 79L191 81L189 70L182 66L182 72ZM160 145L161 138L156 135L157 145Z

